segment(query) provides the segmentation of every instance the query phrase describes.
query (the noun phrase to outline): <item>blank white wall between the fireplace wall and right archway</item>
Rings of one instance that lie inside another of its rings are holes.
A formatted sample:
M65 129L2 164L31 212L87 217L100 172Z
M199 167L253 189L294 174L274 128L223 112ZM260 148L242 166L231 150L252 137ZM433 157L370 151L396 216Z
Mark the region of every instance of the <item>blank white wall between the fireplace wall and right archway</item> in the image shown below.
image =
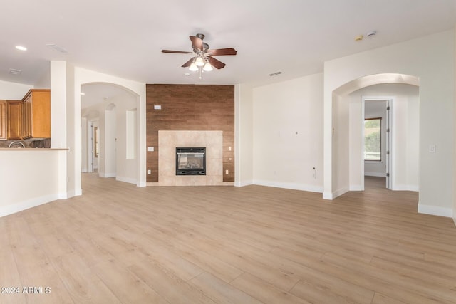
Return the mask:
M322 74L253 89L254 184L322 192L322 92Z

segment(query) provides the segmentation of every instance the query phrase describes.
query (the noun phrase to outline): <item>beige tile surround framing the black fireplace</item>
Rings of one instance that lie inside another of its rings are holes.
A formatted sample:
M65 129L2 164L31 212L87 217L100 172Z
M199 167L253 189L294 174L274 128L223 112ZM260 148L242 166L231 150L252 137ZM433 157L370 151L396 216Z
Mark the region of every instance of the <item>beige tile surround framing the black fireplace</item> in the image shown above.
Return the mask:
M176 175L176 147L206 147L206 175ZM158 182L152 186L232 186L223 182L222 131L158 131Z

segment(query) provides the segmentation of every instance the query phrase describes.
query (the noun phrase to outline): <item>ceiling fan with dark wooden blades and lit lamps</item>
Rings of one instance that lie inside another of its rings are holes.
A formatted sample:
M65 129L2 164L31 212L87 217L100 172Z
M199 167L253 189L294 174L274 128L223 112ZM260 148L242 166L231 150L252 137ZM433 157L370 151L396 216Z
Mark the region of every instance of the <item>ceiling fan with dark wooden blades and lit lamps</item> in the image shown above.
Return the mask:
M224 68L225 64L222 61L215 59L212 56L224 56L224 55L236 55L237 51L234 48L218 48L210 49L209 44L203 42L204 35L202 33L197 33L196 36L190 36L190 41L192 41L192 52L186 51L170 51L162 50L162 53L176 53L176 54L192 54L195 55L190 58L189 61L182 65L182 68L189 67L191 71L199 70L199 78L201 78L202 70L211 71L212 67L220 69Z

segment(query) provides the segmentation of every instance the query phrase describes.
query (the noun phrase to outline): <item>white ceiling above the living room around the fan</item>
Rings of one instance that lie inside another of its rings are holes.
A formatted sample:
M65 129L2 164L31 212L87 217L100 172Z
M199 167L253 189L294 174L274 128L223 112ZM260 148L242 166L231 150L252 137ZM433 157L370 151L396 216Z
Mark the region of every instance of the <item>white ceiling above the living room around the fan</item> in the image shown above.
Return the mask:
M0 80L33 85L49 61L65 60L143 83L258 85L322 72L329 59L455 24L455 0L3 1ZM375 38L354 41L368 31L377 31ZM160 52L191 51L188 36L196 33L211 48L238 51L218 56L227 66L201 80L180 67L190 55Z

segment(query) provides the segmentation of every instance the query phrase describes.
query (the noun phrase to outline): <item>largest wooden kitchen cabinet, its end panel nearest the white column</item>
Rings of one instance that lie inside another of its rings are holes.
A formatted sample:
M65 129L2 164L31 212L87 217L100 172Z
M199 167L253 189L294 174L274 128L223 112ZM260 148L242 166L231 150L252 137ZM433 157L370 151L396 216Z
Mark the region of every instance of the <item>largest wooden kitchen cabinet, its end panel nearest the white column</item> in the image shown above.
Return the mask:
M51 138L51 90L31 89L22 101L22 138Z

